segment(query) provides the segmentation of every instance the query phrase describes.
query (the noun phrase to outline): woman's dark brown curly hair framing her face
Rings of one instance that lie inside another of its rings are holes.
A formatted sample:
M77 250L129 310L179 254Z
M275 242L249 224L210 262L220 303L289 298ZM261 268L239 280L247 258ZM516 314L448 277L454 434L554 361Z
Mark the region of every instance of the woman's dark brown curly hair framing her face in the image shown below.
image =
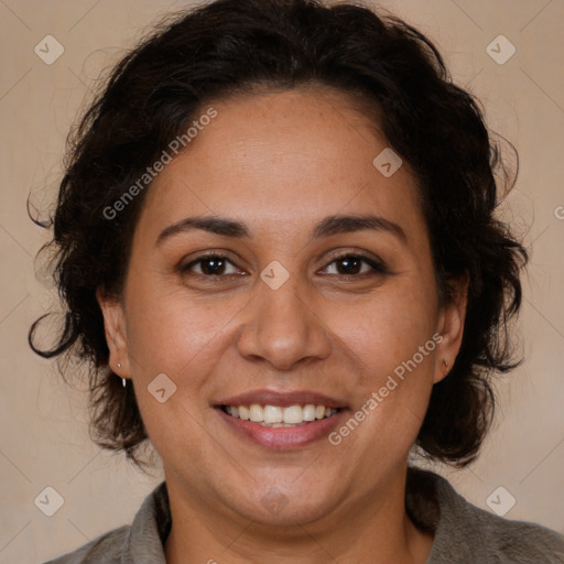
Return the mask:
M138 449L148 435L132 386L122 388L108 366L95 294L121 295L150 187L112 220L105 210L206 104L299 86L330 87L362 102L417 182L442 302L455 299L454 281L469 278L462 348L433 388L416 441L432 459L467 465L491 423L491 376L519 364L509 322L521 304L519 273L528 256L495 218L514 180L479 102L453 84L431 41L361 6L217 0L162 22L117 64L69 137L54 217L35 219L53 226L42 250L55 250L52 267L66 311L53 348L34 345L48 313L31 326L30 346L45 358L65 352L87 361L93 440L143 466Z

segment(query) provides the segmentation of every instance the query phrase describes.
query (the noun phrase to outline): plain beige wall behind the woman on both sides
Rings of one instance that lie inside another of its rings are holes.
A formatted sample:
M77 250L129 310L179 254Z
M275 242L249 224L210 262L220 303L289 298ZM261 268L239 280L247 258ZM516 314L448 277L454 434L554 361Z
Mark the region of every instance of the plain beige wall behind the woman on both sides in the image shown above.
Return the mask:
M37 563L131 521L161 480L89 442L85 395L28 348L31 322L53 301L35 279L45 234L25 200L46 209L59 178L66 132L89 86L151 22L187 2L0 0L1 443L0 562ZM521 158L507 217L532 248L520 322L525 364L499 384L498 425L480 459L449 475L474 503L503 486L510 519L564 533L564 2L560 0L387 0L381 6L434 40L455 80L484 102L490 126ZM34 46L64 46L46 65ZM486 53L499 34L517 47L506 64ZM558 219L560 216L560 219ZM501 422L502 420L502 422ZM34 505L47 486L64 498L53 517ZM505 499L502 500L503 502Z

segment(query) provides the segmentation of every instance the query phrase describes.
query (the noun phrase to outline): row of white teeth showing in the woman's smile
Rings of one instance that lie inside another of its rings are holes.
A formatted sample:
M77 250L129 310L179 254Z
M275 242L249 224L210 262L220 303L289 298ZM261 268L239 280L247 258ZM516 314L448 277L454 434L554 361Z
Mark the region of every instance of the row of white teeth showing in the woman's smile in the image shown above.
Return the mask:
M219 409L235 419L251 421L263 427L301 427L315 421L335 416L341 409L307 403L289 406L261 405L219 405Z

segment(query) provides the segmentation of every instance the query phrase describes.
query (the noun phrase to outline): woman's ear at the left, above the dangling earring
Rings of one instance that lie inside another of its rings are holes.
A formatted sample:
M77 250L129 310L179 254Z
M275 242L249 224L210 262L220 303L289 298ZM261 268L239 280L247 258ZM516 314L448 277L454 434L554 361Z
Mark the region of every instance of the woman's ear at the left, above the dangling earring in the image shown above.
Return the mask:
M119 300L106 296L100 290L96 291L96 300L104 315L106 343L110 349L109 365L118 376L130 376L126 316ZM118 362L121 367L118 367Z

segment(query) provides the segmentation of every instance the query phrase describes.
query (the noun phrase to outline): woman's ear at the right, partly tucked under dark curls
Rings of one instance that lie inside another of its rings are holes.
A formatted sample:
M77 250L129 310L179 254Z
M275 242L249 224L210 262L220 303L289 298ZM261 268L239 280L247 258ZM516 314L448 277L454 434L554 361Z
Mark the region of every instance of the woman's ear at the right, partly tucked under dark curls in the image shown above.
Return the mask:
M433 383L440 382L448 375L460 350L468 302L468 273L451 282L452 300L438 314L436 334L440 335L441 340L437 338Z

